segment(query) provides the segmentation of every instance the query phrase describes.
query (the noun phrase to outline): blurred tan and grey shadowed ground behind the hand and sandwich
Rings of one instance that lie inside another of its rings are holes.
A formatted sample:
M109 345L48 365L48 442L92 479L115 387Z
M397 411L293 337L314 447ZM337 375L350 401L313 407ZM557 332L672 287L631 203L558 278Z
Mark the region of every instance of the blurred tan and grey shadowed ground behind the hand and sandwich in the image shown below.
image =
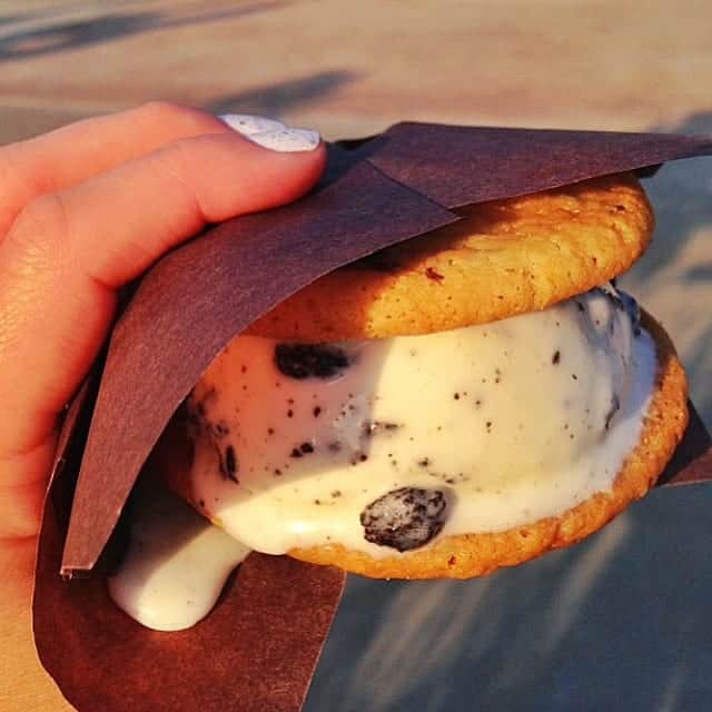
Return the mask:
M326 138L394 121L712 134L709 0L0 0L0 144L169 99ZM646 181L623 285L712 426L712 159ZM349 577L306 710L712 709L712 485L467 583Z

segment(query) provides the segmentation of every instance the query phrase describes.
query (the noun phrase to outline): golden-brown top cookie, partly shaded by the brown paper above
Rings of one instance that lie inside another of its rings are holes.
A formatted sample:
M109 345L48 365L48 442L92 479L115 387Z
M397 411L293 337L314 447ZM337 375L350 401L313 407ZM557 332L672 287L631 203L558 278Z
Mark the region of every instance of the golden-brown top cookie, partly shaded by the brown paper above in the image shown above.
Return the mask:
M322 277L248 333L313 343L385 338L545 309L625 271L654 225L630 174L459 214L454 225Z

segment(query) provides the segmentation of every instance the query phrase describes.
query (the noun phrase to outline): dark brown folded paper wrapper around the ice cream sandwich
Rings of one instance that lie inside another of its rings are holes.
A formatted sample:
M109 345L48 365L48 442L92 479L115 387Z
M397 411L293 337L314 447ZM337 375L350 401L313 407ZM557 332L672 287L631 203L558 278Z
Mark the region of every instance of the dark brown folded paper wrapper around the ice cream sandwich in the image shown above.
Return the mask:
M318 277L458 220L459 207L703 155L712 138L398 123L329 146L324 179L301 200L211 227L165 256L140 280L60 437L33 630L65 696L82 712L301 709L343 572L253 554L210 615L178 633L141 627L106 590L139 472L237 334ZM659 484L711 479L712 441L691 406Z

